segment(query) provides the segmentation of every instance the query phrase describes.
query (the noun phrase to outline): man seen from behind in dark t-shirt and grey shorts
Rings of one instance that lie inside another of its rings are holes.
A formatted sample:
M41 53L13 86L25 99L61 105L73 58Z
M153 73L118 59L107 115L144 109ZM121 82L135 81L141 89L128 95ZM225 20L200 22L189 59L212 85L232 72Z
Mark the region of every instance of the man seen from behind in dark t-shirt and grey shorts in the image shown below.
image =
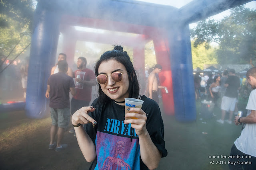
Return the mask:
M52 74L48 78L46 98L49 98L50 93L50 110L52 116L52 127L50 130L50 145L49 149L54 149L58 152L65 149L68 145L62 144L61 140L65 129L70 121L70 102L69 91L73 96L76 95L76 88L72 77L66 75L68 63L66 61L58 62L59 72ZM57 144L54 138L57 134Z

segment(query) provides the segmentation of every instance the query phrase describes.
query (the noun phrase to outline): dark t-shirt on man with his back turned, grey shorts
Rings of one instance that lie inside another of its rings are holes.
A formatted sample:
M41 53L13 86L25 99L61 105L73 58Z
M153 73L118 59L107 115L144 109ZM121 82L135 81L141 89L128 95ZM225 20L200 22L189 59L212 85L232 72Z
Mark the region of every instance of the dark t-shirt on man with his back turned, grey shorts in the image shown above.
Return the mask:
M50 104L54 109L70 107L69 90L75 87L74 80L63 72L52 74L47 81L50 85Z

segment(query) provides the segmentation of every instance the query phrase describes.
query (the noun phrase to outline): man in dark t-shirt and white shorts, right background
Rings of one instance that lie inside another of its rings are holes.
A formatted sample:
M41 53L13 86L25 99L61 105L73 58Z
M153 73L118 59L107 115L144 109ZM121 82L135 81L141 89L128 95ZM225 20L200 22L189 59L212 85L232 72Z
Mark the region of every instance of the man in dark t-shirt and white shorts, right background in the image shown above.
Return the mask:
M229 71L228 79L226 80L224 86L226 87L226 92L222 98L221 102L221 119L217 120L219 123L224 123L224 118L226 111L230 111L229 119L226 121L228 124L232 123L233 112L236 106L236 98L238 95L237 90L240 88L240 79L236 76L236 71L231 69Z

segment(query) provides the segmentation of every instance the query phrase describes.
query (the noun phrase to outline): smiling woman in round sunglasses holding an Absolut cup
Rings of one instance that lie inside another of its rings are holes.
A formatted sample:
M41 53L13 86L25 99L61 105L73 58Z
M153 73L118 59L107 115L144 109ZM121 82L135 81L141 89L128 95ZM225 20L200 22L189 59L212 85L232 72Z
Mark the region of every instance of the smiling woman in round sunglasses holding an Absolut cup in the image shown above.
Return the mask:
M106 51L95 65L98 98L72 116L79 147L90 169L155 169L167 156L158 104L139 96L130 57L121 46ZM124 98L143 100L124 115ZM124 120L125 117L137 119ZM80 126L81 124L85 124Z

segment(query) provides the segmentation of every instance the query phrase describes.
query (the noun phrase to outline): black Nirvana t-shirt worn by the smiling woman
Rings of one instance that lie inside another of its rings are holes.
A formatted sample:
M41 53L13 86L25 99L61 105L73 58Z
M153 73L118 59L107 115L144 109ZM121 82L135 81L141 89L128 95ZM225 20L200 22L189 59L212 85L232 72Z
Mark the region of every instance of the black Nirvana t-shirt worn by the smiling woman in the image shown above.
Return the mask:
M91 123L84 126L96 146L97 153L97 158L92 162L90 170L94 170L96 166L99 169L122 167L124 169L148 170L140 158L139 140L135 129L130 124L123 123L124 106L120 106L114 101L96 105L96 100L91 105L96 110L89 115L97 121L97 124L95 127L92 127ZM162 153L162 157L165 157L167 150L164 143L164 124L159 106L146 96L142 96L141 100L144 101L142 110L148 114L146 129L152 142Z

